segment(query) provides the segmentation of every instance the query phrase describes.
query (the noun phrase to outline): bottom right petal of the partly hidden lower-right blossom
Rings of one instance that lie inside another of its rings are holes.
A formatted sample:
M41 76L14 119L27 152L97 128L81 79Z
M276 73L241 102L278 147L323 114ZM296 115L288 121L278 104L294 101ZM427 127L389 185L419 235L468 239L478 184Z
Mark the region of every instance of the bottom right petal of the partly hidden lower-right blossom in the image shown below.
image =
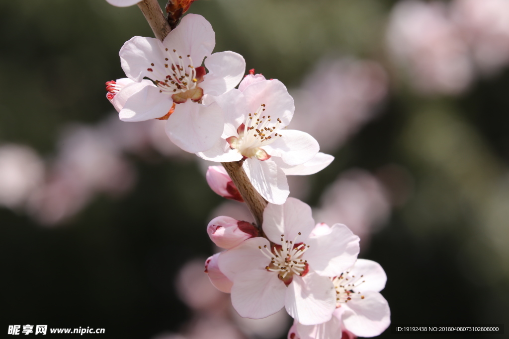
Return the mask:
M345 328L357 336L372 337L381 334L390 325L387 300L378 292L362 293L364 299L352 299L342 307Z

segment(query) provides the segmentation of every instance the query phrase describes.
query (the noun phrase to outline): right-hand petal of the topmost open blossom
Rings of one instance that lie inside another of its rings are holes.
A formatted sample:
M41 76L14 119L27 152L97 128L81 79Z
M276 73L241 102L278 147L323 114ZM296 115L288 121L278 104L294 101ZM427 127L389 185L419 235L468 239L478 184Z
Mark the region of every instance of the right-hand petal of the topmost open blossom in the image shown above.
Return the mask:
M239 84L246 70L246 61L238 53L224 51L207 57L205 67L209 73L204 76L200 87L205 94L219 96Z

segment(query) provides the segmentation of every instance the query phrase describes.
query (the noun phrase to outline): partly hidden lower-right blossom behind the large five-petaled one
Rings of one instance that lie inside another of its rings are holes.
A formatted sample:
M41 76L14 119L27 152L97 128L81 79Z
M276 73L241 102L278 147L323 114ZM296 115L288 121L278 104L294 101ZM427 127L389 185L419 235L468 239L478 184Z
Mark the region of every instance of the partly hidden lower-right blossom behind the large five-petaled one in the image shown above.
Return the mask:
M325 224L317 225L317 233L328 232ZM390 324L387 300L379 293L387 281L383 268L371 260L357 259L355 265L332 278L336 291L333 317L319 325L303 325L297 321L289 338L336 339L339 333L372 337L381 334Z

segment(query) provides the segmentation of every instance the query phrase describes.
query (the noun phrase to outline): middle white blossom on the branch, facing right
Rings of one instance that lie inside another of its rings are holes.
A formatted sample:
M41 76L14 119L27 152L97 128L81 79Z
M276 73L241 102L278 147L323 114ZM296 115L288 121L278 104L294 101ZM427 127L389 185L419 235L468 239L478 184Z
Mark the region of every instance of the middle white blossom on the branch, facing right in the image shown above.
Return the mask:
M253 187L268 202L282 204L290 193L287 174L316 173L334 158L318 153L318 142L309 134L285 129L294 103L280 81L246 77L239 88L243 91L213 98L225 114L224 132L211 149L197 155L216 162L243 160Z

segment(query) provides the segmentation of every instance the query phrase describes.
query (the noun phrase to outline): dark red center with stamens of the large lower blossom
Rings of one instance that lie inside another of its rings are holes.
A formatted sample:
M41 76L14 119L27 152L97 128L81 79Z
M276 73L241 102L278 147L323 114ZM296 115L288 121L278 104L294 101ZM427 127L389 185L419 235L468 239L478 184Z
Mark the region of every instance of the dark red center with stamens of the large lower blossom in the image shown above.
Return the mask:
M300 232L299 232L300 235ZM295 237L297 239L297 237ZM304 276L308 271L307 260L301 259L302 254L309 248L305 243L295 243L285 239L281 234L281 245L273 245L272 252L267 245L259 246L263 255L270 259L270 264L265 267L268 271L277 272L281 279L288 286L294 274Z

